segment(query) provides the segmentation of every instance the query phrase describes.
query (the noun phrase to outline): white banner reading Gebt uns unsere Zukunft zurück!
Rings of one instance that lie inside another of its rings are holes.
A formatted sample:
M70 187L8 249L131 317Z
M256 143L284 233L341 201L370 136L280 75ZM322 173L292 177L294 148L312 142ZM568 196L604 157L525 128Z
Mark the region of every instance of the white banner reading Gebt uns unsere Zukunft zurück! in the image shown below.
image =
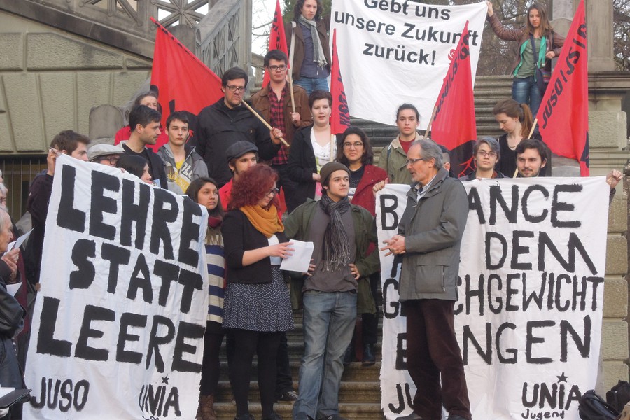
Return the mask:
M393 125L403 103L420 111L426 129L461 31L468 25L474 84L488 6L414 1L332 1L339 64L352 116Z

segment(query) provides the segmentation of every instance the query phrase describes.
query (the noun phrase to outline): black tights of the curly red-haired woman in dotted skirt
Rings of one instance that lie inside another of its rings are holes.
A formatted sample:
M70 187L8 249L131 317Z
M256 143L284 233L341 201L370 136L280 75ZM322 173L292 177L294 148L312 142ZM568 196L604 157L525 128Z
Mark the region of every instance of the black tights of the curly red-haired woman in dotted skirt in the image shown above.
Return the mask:
M254 353L258 356L258 387L262 418L273 414L276 389L276 358L280 344L280 332L230 330L235 340L235 351L230 360L232 391L237 403L237 416L248 414L247 394Z

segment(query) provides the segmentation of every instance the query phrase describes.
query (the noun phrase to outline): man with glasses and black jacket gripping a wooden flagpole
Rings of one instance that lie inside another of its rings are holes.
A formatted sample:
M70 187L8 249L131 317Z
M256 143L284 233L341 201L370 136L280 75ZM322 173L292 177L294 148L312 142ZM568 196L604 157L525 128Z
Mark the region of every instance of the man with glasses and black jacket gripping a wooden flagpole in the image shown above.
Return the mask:
M221 188L230 181L232 174L225 159L225 151L237 141L251 141L258 147L262 160L276 156L281 144L279 130L268 130L256 116L243 105L249 78L243 69L232 67L223 73L221 91L224 94L214 104L206 106L197 116L192 146L196 146L206 165L209 176Z

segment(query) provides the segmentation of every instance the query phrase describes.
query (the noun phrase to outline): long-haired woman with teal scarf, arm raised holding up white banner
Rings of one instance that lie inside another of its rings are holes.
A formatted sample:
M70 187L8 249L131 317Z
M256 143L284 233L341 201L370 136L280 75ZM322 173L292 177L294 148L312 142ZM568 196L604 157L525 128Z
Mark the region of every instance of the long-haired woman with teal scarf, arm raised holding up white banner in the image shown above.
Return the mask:
M547 9L533 3L527 9L525 27L507 29L494 13L491 1L488 4L490 27L504 41L518 41L519 50L512 65L512 98L519 104L528 104L535 116L542 101L544 90L539 89L538 79L551 76L551 59L560 55L564 37L554 31Z

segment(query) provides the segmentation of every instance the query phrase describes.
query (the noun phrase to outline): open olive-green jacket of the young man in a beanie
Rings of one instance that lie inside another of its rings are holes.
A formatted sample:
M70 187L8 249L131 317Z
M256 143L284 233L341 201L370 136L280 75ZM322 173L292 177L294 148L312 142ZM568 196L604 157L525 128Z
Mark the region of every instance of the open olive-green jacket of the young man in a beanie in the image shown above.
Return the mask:
M318 202L307 199L297 209L293 210L284 221L284 234L288 239L297 239L300 241L309 241L311 238L311 222L315 214ZM376 304L370 292L370 280L367 279L370 274L378 272L381 269L378 251L367 253L370 242L377 243L376 225L374 217L369 211L351 204L352 221L354 225L354 236L356 240L356 265L361 277L358 279L358 296L356 302L357 314L374 314L376 312ZM304 276L302 274L293 273L291 279L291 304L293 309L302 308L302 287L304 286Z

